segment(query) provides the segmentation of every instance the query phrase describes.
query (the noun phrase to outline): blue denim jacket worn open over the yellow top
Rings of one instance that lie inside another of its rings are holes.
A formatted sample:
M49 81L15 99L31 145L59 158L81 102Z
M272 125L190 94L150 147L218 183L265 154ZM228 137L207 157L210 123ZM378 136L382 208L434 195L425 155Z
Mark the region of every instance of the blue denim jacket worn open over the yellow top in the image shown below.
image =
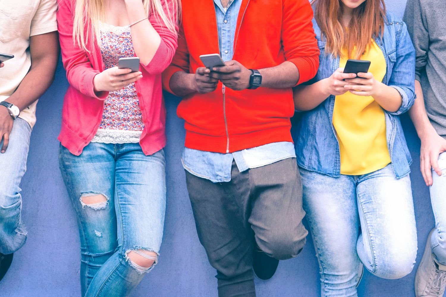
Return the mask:
M415 101L415 49L410 40L406 24L392 13L384 20L384 36L375 39L384 53L387 71L383 83L400 92L403 101L396 112L384 110L387 146L397 179L410 173L412 158L407 148L399 115L409 110ZM309 83L330 77L339 68L339 57L325 53L325 37L313 19L314 31L321 50L320 66L316 77ZM302 112L297 127L297 164L306 170L316 171L332 177L340 176L339 142L333 126L335 96L330 95L313 110Z

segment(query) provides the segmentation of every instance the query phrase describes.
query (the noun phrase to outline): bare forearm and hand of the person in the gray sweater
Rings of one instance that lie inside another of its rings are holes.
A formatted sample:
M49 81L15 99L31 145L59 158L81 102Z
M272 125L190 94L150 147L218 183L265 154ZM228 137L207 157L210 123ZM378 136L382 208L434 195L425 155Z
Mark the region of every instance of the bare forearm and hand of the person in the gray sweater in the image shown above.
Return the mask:
M427 117L423 91L421 90L420 82L417 80L415 81L415 93L417 94L417 99L415 99L415 103L409 110L409 116L421 140L421 174L426 186L431 186L433 183L431 168L434 168L438 176L442 175L442 171L438 166L438 155L446 151L446 140L437 134Z

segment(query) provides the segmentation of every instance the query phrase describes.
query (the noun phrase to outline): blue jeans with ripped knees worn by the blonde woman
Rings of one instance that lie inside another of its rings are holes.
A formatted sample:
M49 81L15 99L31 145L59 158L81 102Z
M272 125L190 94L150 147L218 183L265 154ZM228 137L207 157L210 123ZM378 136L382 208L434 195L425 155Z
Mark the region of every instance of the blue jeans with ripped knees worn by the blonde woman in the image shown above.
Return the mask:
M91 142L81 155L60 146L60 169L78 213L81 291L87 297L126 296L145 272L127 253L159 254L165 217L164 151L146 156L138 143ZM103 195L87 205L82 198Z

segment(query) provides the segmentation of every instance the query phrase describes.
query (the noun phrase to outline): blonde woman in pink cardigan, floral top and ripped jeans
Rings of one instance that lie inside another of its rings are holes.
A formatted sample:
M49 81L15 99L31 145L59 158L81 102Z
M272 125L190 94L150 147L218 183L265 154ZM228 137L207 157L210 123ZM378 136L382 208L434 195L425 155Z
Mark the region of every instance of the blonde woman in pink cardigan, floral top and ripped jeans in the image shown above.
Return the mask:
M59 0L70 83L60 168L78 214L82 296L126 296L157 264L165 216L161 73L177 0ZM118 69L139 57L140 71Z

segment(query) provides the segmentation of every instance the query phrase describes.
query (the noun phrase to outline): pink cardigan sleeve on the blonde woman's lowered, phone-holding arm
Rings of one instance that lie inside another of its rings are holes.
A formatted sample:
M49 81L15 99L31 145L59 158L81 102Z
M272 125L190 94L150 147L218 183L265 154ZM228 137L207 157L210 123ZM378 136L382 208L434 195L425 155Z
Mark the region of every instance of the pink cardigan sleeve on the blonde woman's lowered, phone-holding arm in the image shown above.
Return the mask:
M58 0L58 4L59 41L68 82L82 94L103 100L108 96L108 92L96 93L93 87L93 78L100 71L93 68L87 53L73 42L73 8L76 1Z

